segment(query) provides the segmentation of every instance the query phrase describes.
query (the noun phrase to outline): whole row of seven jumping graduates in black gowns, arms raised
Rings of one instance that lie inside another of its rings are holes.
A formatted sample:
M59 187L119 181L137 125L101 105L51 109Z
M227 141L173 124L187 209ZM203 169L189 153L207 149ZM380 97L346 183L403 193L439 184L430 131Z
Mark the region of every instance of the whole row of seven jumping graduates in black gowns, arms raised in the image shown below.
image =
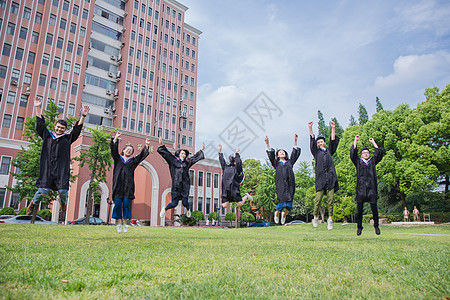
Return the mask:
M50 190L58 191L61 210L66 210L67 194L69 189L70 176L70 146L79 137L83 122L89 113L89 106L81 109L81 118L73 126L70 133L66 134L67 122L58 120L54 130L49 130L45 125L45 119L41 115L40 106L42 101L35 98L34 107L36 114L36 130L43 140L42 151L40 156L39 178L36 182L38 191L33 200L27 207L27 214L31 215L33 210L37 209L37 205L41 198L48 194ZM324 195L327 196L328 202L328 230L333 229L333 205L334 193L339 189L336 170L332 155L336 152L339 144L339 137L335 134L335 123L331 122L331 137L329 147L327 147L324 137L315 137L312 130L313 122L308 123L310 134L310 150L315 161L315 188L316 199L314 202L314 219L312 224L318 227L319 223L319 207ZM145 146L141 152L133 156L134 148L127 144L119 153L119 137L120 132L116 132L114 138L111 139L111 156L114 160L113 170L113 193L114 209L112 218L116 220L117 232L128 232L128 226L131 216L131 201L135 198L134 172L137 166L149 155L150 140L146 139ZM292 210L293 199L295 193L295 175L294 165L300 156L301 149L297 147L298 135L295 134L294 147L289 157L284 149L275 152L269 146L269 138L266 136L265 143L267 146L267 156L271 165L275 168L275 186L278 199L278 205L275 208L274 222L285 224L286 216ZM370 142L374 146L374 156L370 158L368 148L362 148L358 151L357 142L359 135L355 136L355 140L350 149L350 158L356 167L357 185L356 185L356 203L357 203L357 235L362 233L362 211L364 202L369 202L373 213L374 228L377 235L380 234L378 226L378 210L377 210L377 176L376 164L382 159L383 151L375 143L373 138ZM178 206L181 200L182 205L186 208L186 215L191 216L189 207L189 189L190 178L189 169L198 161L205 158L203 150L190 156L186 149L179 149L175 153L171 153L159 138L159 147L157 152L163 157L169 166L170 176L172 178L171 196L172 202L164 207L160 212L160 217L164 218L169 209ZM222 153L222 146L218 146L219 162L223 170L221 200L222 207L229 207L230 203L236 203L242 206L246 200L253 200L250 194L241 197L240 185L245 176L242 168L242 160L239 155L239 149L234 151L234 155L230 155L228 162Z

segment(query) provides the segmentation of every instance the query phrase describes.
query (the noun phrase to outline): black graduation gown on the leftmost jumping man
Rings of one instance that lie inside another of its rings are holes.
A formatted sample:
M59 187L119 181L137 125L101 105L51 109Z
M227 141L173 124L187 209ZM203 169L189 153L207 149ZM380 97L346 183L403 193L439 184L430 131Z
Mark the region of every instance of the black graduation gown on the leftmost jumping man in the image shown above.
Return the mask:
M36 116L36 131L42 138L37 187L69 189L70 145L80 136L82 128L83 125L76 122L70 133L54 138L45 126L44 116Z

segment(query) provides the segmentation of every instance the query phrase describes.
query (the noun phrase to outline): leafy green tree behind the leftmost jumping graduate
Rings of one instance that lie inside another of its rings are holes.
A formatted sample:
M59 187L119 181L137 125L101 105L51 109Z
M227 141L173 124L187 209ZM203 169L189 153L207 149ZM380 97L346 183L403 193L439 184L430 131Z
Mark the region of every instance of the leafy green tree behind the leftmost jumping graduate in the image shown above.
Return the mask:
M47 128L53 129L55 127L58 116L60 115L58 106L50 100L47 108L42 111L45 118ZM66 119L67 128L75 124L76 118L69 117ZM33 199L36 193L36 180L39 177L39 164L42 150L42 139L36 132L36 117L28 117L25 121L25 128L23 130L23 137L29 143L28 147L21 147L17 156L13 159L12 165L15 167L15 172L11 173L16 183L13 187L7 186L13 193L19 194L19 199L26 199L27 204ZM71 174L70 181L73 182L76 176ZM45 197L41 198L41 205L47 207L49 203L56 200L57 193L51 191ZM36 211L33 214L35 219Z

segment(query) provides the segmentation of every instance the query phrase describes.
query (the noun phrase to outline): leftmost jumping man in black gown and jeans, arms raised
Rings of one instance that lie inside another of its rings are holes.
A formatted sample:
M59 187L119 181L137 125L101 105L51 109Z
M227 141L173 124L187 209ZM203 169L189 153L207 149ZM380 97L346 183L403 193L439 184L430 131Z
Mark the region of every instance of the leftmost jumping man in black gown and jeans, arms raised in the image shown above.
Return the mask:
M38 188L33 200L29 203L26 213L33 214L36 205L50 190L58 191L61 210L66 211L67 195L70 178L70 146L80 136L84 119L89 113L89 106L81 108L81 118L72 127L70 133L65 133L67 122L58 120L54 130L48 130L44 116L41 114L42 99L34 99L36 115L36 131L42 138L42 149L39 162L39 177L36 181Z

